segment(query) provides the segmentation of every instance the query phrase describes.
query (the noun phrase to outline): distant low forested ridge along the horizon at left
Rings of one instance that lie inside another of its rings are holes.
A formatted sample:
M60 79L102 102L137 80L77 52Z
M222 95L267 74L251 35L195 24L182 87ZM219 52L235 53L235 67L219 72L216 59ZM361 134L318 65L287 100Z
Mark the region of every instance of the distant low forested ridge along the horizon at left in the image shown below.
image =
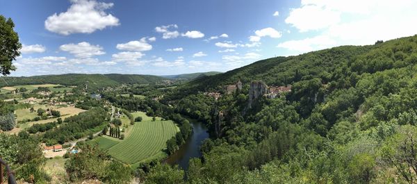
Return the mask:
M0 87L13 85L28 84L60 84L60 85L76 85L83 86L88 84L92 89L101 87L115 87L121 84L151 84L160 83L167 78L149 75L133 75L133 74L62 74L62 75L45 75L45 76L29 76L29 77L1 77ZM5 82L6 81L6 82Z

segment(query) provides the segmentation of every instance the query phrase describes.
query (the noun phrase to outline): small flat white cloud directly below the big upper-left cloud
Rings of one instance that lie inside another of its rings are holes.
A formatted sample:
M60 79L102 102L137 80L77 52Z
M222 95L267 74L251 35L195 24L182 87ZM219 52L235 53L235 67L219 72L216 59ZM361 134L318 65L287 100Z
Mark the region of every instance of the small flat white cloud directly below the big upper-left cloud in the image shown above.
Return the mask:
M61 51L72 53L77 58L91 58L105 54L102 47L92 45L88 42L79 42L78 44L63 44L59 47Z

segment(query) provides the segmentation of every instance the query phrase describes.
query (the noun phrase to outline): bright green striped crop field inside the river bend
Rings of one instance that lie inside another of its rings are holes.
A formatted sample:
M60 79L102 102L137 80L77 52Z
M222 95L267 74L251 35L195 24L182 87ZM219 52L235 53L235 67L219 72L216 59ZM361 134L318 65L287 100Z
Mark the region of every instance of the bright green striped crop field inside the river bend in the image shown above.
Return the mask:
M166 142L179 131L172 121L136 122L125 140L108 149L117 160L136 163L164 156Z

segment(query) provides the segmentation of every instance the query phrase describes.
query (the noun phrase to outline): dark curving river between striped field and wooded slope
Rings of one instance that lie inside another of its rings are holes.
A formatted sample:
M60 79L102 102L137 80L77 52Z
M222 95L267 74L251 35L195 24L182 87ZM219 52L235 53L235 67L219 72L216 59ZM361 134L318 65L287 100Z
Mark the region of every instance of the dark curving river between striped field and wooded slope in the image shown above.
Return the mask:
M207 128L202 122L193 121L193 135L191 135L185 144L183 144L178 151L165 159L165 162L170 165L179 165L184 170L188 169L188 160L190 158L199 158L202 156L200 146L202 141L208 138Z

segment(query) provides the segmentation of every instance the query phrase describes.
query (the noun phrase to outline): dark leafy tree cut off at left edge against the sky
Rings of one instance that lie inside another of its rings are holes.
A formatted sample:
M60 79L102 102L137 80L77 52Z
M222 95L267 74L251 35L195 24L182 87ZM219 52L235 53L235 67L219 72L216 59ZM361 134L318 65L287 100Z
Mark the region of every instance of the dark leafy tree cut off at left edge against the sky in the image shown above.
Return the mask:
M19 35L13 30L13 20L0 15L0 73L3 75L15 71L13 60L20 56L22 44L19 42Z

